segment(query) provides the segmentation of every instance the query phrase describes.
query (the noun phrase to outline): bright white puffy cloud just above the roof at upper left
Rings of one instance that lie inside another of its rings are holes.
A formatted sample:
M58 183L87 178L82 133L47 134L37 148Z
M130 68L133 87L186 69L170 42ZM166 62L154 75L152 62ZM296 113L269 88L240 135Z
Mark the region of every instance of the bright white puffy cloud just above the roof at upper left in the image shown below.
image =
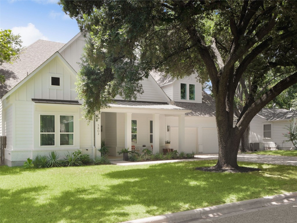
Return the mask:
M23 40L23 46L29 46L36 40L48 40L32 23L28 23L28 26L13 27L13 34L19 34L21 40Z

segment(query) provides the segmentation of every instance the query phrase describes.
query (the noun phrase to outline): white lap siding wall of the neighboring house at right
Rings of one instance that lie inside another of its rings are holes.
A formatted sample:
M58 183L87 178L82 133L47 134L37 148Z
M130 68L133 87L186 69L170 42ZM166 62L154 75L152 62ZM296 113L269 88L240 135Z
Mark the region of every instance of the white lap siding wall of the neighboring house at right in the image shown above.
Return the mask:
M272 124L272 139L263 139L263 125ZM265 147L291 148L291 142L284 142L287 138L283 135L287 132L286 126L290 126L290 120L268 121L255 116L250 123L249 142L263 142Z

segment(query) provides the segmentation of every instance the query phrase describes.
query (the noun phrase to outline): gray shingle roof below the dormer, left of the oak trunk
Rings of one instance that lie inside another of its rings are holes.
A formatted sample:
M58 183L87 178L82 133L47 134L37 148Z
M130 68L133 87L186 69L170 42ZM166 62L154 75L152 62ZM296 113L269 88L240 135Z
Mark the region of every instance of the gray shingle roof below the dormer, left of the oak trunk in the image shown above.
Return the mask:
M192 110L192 112L186 113L189 116L216 116L215 100L205 91L202 91L202 103L174 102L174 104L178 107Z

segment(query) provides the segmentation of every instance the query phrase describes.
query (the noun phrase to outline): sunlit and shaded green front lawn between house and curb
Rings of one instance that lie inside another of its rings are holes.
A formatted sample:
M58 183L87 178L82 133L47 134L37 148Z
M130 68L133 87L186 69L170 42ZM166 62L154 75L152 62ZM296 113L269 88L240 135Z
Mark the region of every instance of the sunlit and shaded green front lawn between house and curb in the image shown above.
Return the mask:
M1 222L121 222L297 191L297 167L211 173L216 161L51 169L0 168Z

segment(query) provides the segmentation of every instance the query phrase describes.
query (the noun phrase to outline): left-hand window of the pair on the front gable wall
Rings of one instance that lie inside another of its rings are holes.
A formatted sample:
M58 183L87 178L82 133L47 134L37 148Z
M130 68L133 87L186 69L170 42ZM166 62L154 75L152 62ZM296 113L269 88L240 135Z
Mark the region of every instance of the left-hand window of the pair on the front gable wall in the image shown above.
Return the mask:
M55 145L55 116L40 115L40 146Z

